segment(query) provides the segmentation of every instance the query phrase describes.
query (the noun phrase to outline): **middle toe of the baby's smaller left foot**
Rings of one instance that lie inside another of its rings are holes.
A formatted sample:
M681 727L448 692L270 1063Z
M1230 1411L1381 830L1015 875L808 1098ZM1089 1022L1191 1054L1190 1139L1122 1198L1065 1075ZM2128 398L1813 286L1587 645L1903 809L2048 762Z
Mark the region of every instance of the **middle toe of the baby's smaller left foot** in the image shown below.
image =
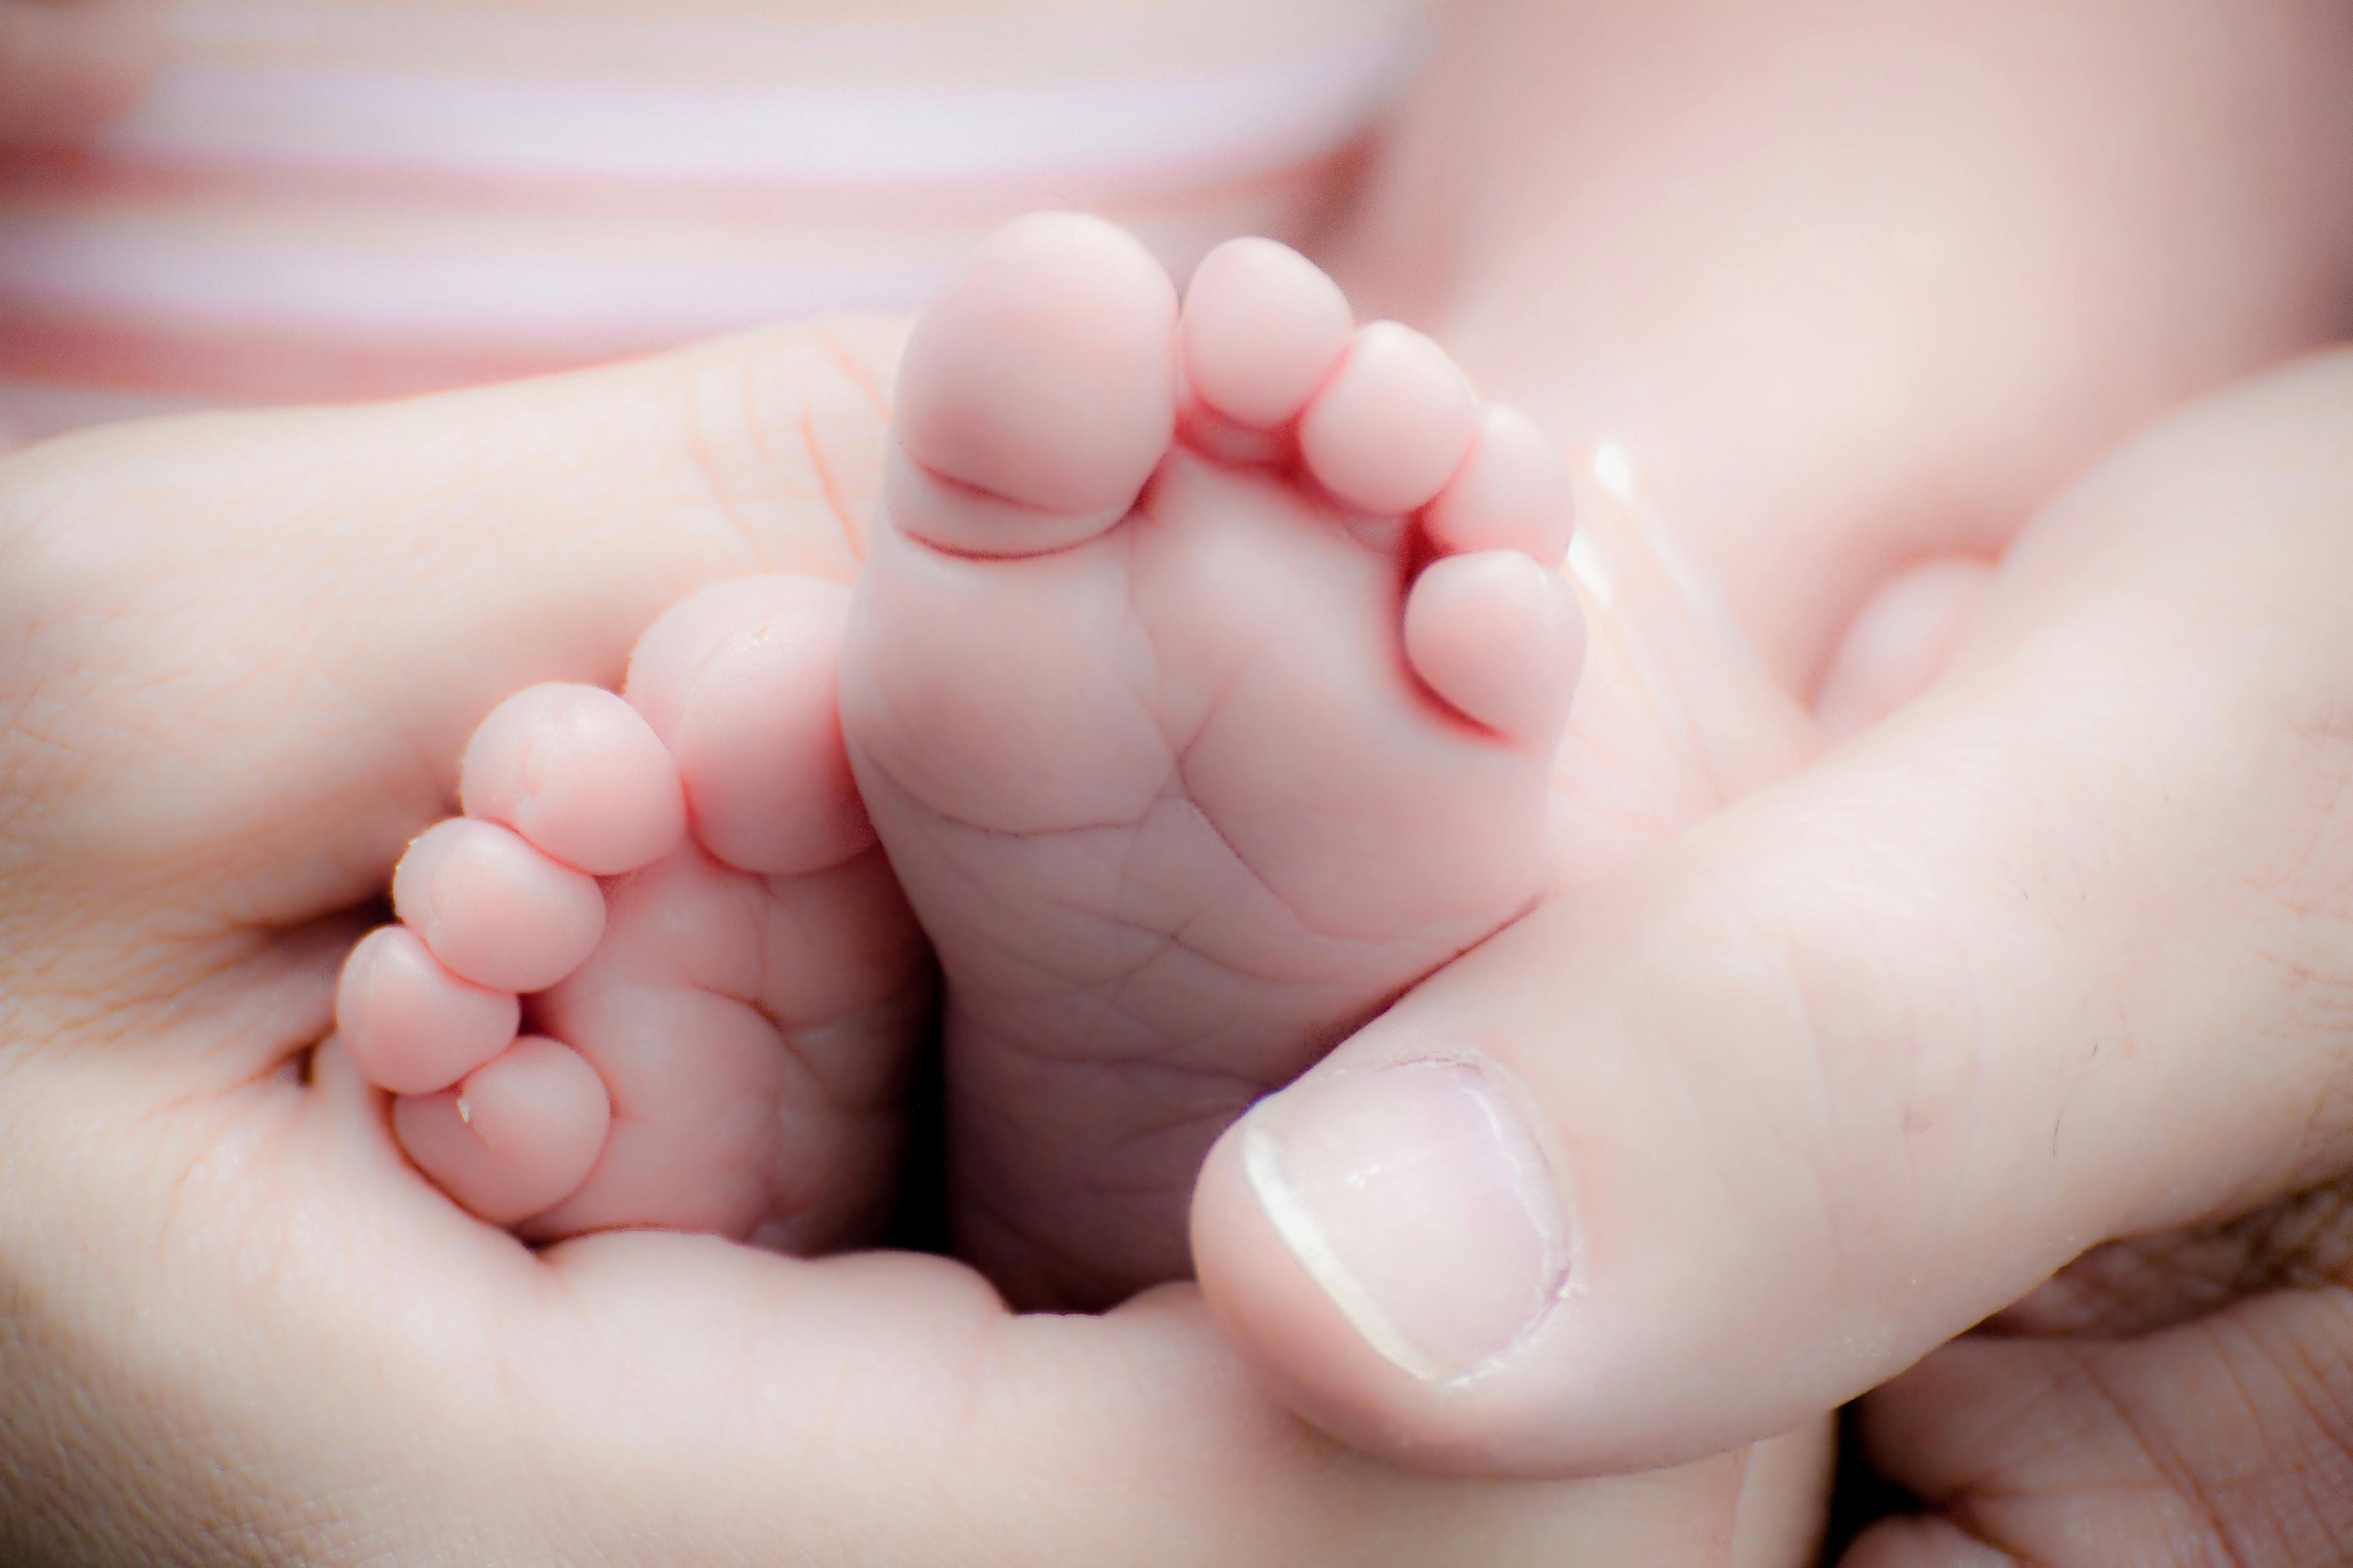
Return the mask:
M499 992L555 985L605 933L595 877L473 818L435 823L409 844L393 910L449 973Z

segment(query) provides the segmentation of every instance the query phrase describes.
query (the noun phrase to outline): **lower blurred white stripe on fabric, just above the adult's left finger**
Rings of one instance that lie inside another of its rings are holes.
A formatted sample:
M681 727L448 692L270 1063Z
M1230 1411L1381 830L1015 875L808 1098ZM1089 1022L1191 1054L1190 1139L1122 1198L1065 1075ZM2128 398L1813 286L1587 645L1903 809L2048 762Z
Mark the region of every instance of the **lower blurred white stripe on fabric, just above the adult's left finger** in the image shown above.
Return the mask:
M0 219L0 282L19 306L494 341L694 339L824 310L911 308L934 280L934 268L409 252Z

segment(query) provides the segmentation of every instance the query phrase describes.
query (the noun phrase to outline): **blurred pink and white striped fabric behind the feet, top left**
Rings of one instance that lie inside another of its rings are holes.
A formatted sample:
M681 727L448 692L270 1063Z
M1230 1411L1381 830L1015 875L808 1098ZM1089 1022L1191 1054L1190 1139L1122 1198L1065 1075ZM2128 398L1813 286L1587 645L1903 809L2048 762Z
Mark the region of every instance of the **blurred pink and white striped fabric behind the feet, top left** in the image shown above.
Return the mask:
M1297 235L1407 0L960 19L191 0L151 101L0 160L0 421L386 397L911 308L1085 207L1176 270Z

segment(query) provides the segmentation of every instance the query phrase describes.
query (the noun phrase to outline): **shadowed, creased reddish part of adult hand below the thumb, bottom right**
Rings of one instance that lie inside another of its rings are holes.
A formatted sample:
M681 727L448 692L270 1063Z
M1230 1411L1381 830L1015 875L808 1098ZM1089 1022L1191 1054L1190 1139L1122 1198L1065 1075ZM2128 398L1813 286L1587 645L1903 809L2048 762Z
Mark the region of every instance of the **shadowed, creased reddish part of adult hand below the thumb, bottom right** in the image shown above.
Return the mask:
M2353 1180L2094 1251L1864 1399L1925 1512L1842 1563L2348 1561L2348 1286Z

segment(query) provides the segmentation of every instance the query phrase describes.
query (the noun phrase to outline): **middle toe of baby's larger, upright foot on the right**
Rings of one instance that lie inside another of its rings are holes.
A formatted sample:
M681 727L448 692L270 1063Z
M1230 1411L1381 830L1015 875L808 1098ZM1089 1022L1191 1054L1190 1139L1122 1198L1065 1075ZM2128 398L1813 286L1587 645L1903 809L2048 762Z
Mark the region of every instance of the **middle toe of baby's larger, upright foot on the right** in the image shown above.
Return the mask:
M1445 350L1412 327L1372 322L1299 416L1299 451L1339 501L1398 517L1461 468L1475 428L1478 397Z

